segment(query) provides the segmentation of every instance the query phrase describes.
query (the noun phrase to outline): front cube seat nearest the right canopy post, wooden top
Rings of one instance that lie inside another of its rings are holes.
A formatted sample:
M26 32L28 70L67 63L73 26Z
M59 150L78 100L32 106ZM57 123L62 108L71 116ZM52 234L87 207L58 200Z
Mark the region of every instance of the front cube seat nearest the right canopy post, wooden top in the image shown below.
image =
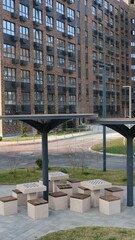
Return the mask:
M99 211L106 215L117 214L121 212L120 198L113 195L105 195L99 198Z

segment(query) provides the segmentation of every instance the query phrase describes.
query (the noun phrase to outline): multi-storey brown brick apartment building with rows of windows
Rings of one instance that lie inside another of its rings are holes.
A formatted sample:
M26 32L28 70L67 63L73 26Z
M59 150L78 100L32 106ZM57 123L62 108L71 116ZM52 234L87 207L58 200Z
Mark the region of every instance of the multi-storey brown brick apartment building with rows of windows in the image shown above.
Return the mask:
M134 5L134 4L131 4ZM131 85L134 6L117 0L2 0L0 115L123 117ZM132 11L131 11L132 8ZM16 133L0 122L0 135Z

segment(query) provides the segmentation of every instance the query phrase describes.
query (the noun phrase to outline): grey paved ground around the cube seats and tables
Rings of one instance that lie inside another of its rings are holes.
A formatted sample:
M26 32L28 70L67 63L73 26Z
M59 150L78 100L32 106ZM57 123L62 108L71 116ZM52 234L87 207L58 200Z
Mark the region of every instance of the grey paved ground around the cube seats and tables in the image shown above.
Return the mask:
M15 186L0 186L0 196L10 195ZM135 206L126 206L126 187L124 203L120 214L106 216L99 213L98 208L80 214L69 209L49 211L49 217L32 220L27 216L26 206L19 207L18 214L0 216L1 240L35 240L53 231L65 230L79 226L112 226L135 228ZM135 190L135 189L134 189ZM134 201L135 204L135 201Z

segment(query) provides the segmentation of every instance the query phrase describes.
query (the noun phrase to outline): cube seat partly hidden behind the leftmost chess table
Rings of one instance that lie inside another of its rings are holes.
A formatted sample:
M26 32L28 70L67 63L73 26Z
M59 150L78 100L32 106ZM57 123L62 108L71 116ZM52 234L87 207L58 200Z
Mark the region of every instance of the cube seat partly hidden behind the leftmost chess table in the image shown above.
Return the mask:
M17 198L18 206L23 206L27 204L27 194L22 193L20 190L13 189L12 196Z

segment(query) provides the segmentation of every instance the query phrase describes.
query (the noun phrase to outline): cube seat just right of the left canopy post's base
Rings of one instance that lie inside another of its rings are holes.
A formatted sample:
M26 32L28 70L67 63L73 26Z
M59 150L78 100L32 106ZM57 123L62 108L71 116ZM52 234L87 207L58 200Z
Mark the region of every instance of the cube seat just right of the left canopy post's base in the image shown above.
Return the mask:
M68 195L61 191L49 193L49 207L53 210L68 208Z

